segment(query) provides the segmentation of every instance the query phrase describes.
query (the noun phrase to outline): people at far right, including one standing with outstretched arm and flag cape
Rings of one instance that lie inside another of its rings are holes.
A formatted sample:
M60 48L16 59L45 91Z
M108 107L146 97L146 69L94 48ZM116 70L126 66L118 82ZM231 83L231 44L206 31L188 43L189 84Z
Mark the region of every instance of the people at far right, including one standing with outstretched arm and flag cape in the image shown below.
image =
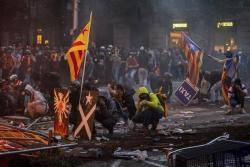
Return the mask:
M245 96L248 91L239 75L241 55L238 52L227 51L224 59L208 55L214 61L223 64L221 71L205 71L201 75L200 99L210 95L212 103L218 103L223 97L224 106L228 108L226 114L232 114L235 108L246 113ZM220 96L221 95L221 96Z

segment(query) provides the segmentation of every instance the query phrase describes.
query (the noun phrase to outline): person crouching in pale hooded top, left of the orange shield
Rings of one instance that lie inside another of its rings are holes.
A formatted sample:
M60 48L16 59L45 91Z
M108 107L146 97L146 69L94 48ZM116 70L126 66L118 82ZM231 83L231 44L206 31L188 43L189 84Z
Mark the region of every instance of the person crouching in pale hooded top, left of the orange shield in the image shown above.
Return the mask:
M47 113L49 106L41 92L36 91L31 85L27 84L24 93L28 97L25 111L31 118L37 118Z

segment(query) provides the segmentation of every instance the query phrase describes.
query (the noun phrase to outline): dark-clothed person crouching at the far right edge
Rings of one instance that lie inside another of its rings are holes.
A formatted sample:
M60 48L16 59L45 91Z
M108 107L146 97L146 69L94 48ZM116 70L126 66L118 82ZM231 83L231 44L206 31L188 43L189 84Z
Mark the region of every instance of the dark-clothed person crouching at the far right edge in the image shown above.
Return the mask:
M240 106L240 111L242 113L246 113L244 101L245 96L247 95L247 88L244 84L241 83L240 79L235 79L232 86L228 91L228 98L230 100L230 109L226 114L231 114L233 110Z

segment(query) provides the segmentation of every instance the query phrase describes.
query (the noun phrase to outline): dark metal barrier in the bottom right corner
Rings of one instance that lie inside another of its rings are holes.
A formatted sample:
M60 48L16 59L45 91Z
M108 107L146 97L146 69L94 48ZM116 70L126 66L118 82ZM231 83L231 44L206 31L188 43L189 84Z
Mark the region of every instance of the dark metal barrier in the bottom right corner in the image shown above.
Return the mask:
M220 138L167 155L169 167L250 167L250 143Z

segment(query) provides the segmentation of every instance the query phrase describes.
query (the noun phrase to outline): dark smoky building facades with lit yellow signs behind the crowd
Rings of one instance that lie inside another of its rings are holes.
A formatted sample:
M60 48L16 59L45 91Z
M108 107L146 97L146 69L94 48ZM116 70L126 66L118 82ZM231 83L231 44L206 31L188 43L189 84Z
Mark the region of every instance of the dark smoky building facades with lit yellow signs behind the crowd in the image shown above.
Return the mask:
M0 1L0 44L69 46L73 0ZM78 29L93 11L91 41L130 48L168 48L188 33L205 51L250 53L248 0L79 0ZM10 12L9 11L14 11Z

